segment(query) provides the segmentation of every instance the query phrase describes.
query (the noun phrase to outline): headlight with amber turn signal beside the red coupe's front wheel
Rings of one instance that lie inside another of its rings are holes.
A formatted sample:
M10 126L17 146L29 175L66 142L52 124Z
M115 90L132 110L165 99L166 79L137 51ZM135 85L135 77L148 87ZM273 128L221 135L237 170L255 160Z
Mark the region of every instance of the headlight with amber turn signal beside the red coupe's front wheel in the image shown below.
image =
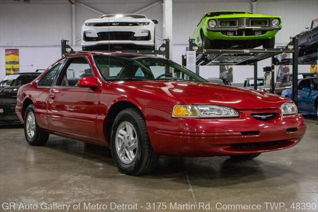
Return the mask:
M216 118L238 117L239 112L231 107L215 105L175 105L172 117Z

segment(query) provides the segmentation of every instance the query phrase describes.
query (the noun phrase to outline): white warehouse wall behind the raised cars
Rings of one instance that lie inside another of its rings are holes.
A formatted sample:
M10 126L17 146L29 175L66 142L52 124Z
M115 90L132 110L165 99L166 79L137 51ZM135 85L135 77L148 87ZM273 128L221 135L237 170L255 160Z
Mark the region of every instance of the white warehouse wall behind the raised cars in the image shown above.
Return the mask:
M158 0L77 0L104 13L132 13ZM173 0L173 60L181 63L188 38L208 10L251 10L250 0ZM311 20L318 17L318 0L258 0L259 13L281 15L283 28L276 35L276 43L286 44L291 35L298 34ZM141 13L157 19L156 35L162 35L162 5L158 4ZM101 14L76 5L76 38L85 19ZM50 66L61 56L61 39L72 43L72 6L68 0L31 0L22 3L0 0L0 79L5 75L4 49L18 48L20 72L34 71ZM159 41L159 40L158 40ZM75 49L80 49L78 41ZM259 62L258 75L262 67L269 66L270 59ZM299 72L309 72L309 66L299 66ZM217 77L219 67L201 67L200 74ZM253 67L234 67L234 83L243 82L253 75Z

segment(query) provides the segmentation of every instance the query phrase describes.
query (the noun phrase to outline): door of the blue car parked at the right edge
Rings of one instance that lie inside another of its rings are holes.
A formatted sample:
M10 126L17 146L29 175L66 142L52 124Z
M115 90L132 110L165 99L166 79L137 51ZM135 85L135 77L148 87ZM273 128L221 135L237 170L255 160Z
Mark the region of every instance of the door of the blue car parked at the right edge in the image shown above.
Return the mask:
M310 106L310 95L312 86L310 79L302 80L298 85L298 109L301 112L306 112Z

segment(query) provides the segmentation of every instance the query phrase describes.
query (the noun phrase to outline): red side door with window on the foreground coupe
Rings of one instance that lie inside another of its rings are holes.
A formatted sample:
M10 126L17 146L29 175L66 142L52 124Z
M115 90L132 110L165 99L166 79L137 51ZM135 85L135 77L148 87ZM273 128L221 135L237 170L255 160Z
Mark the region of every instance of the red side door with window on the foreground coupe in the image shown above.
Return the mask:
M80 78L94 76L86 57L68 59L48 100L48 123L56 133L96 143L98 89L79 88Z

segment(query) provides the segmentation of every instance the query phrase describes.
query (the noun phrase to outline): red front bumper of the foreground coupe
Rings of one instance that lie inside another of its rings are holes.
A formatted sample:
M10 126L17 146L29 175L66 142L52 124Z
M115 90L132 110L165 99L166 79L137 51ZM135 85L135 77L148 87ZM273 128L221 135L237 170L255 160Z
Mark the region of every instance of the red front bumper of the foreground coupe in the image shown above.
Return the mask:
M255 112L278 112L267 121ZM302 115L282 116L279 109L240 110L238 118L171 118L147 121L153 149L160 155L226 156L275 151L296 145L304 136Z

